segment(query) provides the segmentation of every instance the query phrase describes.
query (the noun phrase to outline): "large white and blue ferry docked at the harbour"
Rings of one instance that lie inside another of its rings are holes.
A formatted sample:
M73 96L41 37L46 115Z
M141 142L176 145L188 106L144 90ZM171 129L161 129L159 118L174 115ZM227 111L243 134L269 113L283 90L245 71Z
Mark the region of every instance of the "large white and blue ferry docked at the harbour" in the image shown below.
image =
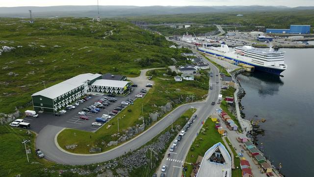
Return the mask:
M220 48L199 47L198 50L234 60L236 63L252 65L255 67L255 70L271 74L280 75L280 73L287 69L284 58L285 52L274 51L272 47L270 47L269 51L263 51L252 46L241 46L235 47L234 51L230 51L226 44L221 44Z

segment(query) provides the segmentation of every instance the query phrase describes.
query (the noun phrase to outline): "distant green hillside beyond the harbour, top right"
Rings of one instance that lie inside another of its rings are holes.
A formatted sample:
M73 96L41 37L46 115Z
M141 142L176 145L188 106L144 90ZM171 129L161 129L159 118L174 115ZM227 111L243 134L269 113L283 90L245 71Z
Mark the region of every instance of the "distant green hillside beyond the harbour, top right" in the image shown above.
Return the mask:
M197 13L197 12L196 12ZM236 17L237 14L243 17ZM132 21L149 24L196 23L241 26L265 26L266 28L289 28L289 25L314 25L314 10L267 11L267 12L228 12L198 13L178 15L156 15L129 17ZM313 32L313 31L312 31Z

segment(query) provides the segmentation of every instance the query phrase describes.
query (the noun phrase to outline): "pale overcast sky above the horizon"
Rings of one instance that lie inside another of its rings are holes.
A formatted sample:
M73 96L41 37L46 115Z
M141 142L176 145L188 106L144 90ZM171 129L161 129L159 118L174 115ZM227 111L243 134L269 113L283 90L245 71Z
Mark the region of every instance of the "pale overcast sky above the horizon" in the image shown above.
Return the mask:
M1 7L54 6L54 5L95 5L97 0L0 0ZM99 0L100 5L285 5L314 6L314 0Z

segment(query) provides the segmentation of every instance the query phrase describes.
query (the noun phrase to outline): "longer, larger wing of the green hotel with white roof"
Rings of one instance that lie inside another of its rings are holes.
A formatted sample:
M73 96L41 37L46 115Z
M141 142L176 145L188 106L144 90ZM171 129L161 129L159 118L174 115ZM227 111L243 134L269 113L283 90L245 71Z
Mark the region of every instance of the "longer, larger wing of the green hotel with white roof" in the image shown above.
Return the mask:
M80 74L31 95L34 111L54 113L79 99L90 90L90 86L101 74Z

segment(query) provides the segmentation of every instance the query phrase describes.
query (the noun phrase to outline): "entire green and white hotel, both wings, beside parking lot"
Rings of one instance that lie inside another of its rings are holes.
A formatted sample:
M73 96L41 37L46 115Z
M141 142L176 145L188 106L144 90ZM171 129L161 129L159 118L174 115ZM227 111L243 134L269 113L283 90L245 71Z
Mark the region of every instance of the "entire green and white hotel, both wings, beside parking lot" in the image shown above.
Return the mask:
M87 92L125 94L131 88L127 81L102 79L101 74L80 74L31 95L34 111L55 113L78 100Z

